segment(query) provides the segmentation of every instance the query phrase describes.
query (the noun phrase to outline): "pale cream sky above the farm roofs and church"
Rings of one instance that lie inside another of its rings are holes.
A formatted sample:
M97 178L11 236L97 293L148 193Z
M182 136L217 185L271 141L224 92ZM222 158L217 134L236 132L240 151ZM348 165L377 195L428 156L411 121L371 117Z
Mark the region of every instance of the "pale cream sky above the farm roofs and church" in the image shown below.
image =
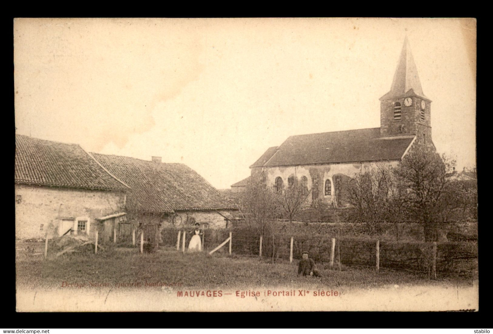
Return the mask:
M290 135L380 127L407 35L432 140L476 165L473 19L15 19L17 134L229 188Z

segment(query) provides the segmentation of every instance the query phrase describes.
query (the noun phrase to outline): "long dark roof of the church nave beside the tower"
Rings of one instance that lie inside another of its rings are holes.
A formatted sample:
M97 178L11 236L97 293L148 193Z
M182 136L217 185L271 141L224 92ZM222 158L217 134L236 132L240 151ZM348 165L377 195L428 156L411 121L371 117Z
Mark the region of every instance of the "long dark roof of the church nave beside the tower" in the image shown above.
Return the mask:
M400 160L413 139L414 135L380 137L380 128L293 135L264 165L255 166L259 159L252 167Z

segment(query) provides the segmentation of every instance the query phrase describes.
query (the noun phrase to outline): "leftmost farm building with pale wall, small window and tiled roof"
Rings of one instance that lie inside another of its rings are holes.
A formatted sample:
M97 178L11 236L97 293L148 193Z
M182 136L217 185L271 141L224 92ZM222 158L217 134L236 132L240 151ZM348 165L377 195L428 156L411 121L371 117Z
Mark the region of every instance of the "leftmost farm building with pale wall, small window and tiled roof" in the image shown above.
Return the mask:
M125 183L77 144L16 134L15 145L16 238L111 234L105 220L124 216Z

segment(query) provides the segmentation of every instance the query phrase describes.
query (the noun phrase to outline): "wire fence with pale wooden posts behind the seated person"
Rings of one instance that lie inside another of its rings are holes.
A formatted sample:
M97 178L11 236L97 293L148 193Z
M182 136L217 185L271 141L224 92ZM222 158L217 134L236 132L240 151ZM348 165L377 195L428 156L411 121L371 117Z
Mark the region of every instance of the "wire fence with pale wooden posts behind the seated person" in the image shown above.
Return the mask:
M163 241L170 240L164 244L185 251L185 243L189 240L185 240L183 234L176 230L163 231L162 234L167 234L167 237L163 236ZM173 241L171 235L174 235ZM477 274L477 242L389 242L300 234L255 236L240 231L235 233L234 229L205 230L202 240L204 251L259 256L291 263L301 259L303 251L308 251L310 257L325 269L341 269L344 266L372 267L378 272L397 269L424 273L432 279L437 275ZM217 247L227 243L229 247Z

